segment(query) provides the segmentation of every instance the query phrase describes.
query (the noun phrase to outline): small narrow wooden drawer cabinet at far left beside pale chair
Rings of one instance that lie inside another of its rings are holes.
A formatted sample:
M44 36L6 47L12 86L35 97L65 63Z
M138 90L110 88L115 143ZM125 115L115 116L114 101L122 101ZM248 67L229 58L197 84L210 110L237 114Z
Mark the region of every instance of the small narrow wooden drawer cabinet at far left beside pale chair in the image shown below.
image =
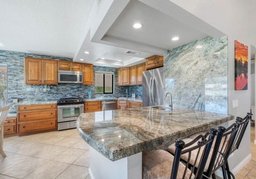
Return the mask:
M3 123L3 137L10 137L17 135L16 132L17 117L7 117Z

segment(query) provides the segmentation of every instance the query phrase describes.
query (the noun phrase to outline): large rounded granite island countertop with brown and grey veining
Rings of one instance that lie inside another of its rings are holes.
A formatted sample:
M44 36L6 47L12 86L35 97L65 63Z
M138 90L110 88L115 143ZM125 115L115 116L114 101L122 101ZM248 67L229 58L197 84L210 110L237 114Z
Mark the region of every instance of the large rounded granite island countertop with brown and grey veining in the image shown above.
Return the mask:
M82 113L79 135L95 150L115 161L139 152L168 147L177 138L233 120L233 115L152 107Z

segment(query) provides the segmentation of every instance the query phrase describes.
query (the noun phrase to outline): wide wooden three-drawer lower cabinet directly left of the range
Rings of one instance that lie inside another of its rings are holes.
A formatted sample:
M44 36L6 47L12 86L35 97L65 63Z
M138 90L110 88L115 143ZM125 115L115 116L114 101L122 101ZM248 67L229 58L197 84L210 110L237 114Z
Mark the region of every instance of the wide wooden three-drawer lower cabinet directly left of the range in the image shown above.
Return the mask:
M17 106L17 133L57 130L57 104Z

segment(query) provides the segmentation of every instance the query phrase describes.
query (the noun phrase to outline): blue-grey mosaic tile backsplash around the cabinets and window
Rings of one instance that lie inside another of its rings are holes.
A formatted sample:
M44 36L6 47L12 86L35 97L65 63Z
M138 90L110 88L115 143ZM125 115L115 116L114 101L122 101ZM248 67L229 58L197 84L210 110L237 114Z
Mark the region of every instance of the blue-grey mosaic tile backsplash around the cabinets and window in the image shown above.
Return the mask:
M114 72L114 94L95 94L93 85L81 84L58 84L58 85L25 85L24 84L24 59L23 57L36 57L45 59L59 59L72 61L71 58L55 57L47 55L37 55L32 53L3 51L0 50L0 63L7 64L7 87L8 99L21 98L23 101L38 100L49 101L59 100L60 98L87 98L87 91L92 91L92 97L113 97L126 95L126 88L128 94L130 92L141 93L142 86L118 86L117 85L117 68L94 66L95 71ZM95 79L95 76L93 77ZM138 88L138 90L137 90ZM13 103L10 105L15 108Z

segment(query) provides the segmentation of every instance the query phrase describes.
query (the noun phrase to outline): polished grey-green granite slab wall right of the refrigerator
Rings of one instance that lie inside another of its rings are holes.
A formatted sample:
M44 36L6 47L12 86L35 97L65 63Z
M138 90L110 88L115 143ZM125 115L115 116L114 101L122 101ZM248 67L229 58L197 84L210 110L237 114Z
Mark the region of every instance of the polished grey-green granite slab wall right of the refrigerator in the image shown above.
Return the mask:
M227 36L204 37L169 51L164 91L172 93L174 108L228 113L227 52Z

